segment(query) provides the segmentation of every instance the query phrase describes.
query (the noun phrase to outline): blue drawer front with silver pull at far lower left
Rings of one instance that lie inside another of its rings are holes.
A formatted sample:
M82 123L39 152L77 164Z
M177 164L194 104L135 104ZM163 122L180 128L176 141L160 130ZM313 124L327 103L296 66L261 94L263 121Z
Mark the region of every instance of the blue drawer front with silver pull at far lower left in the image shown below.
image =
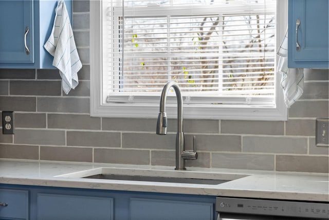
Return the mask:
M27 190L0 189L0 218L3 219L29 219L29 193Z

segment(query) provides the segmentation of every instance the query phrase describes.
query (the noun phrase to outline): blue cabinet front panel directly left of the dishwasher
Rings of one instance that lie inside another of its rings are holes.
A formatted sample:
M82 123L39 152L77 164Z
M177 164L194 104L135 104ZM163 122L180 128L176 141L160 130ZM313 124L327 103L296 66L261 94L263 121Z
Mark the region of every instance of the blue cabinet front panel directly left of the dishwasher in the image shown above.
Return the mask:
M213 204L131 198L130 216L131 220L213 220Z

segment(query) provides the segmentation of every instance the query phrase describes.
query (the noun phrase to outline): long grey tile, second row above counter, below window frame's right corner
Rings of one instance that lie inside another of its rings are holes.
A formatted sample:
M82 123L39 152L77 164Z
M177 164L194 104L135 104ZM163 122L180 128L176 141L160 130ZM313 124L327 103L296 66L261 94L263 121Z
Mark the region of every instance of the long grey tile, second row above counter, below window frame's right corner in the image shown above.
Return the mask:
M242 142L243 152L307 153L307 138L247 136Z

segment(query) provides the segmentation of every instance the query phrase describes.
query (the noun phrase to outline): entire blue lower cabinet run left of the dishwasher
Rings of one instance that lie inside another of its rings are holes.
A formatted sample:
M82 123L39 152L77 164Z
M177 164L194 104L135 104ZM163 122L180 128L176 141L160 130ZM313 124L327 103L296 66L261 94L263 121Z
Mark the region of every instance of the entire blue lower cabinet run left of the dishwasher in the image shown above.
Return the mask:
M0 220L214 220L216 196L0 184L1 201Z

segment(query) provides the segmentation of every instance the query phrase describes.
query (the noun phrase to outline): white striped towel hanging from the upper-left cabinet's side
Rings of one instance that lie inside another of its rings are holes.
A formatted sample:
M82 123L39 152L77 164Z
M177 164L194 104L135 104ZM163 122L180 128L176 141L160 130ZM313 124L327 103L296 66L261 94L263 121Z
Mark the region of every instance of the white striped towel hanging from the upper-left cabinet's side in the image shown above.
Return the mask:
M53 56L52 65L60 70L62 88L65 94L78 84L78 71L82 64L74 41L66 5L59 0L56 8L55 20L44 48Z

